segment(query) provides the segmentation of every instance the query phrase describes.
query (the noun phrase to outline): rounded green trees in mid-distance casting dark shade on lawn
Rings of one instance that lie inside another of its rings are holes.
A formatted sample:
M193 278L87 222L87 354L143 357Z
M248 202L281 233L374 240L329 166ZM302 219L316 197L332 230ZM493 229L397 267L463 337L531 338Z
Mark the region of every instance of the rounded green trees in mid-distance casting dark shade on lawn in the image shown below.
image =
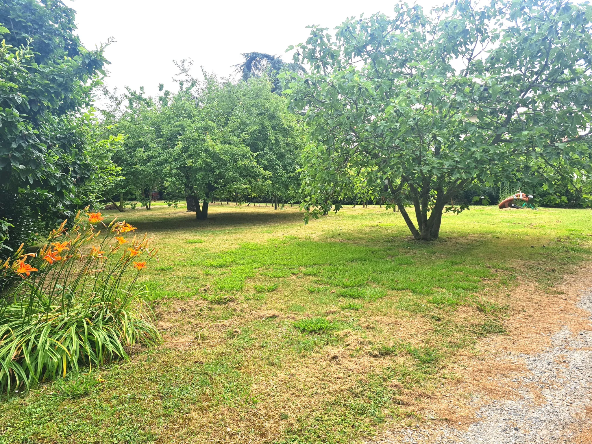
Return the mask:
M303 143L285 99L266 78L234 84L204 73L198 82L190 66L178 66L175 94L153 99L143 88L123 96L104 91L111 105L102 110L102 134L125 135L113 156L124 179L105 197L119 194L120 202L137 199L150 208L149 191L159 189L170 204L185 200L198 219L207 218L215 197L294 200Z

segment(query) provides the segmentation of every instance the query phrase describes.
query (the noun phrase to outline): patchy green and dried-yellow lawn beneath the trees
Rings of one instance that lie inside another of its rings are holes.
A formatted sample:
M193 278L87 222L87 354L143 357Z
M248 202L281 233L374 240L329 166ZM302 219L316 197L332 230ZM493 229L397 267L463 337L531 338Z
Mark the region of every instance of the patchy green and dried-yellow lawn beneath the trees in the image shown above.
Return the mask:
M590 210L471 207L435 242L372 206L122 215L160 249L143 285L163 345L0 404L0 443L349 443L424 420L512 289L550 291L592 246Z

